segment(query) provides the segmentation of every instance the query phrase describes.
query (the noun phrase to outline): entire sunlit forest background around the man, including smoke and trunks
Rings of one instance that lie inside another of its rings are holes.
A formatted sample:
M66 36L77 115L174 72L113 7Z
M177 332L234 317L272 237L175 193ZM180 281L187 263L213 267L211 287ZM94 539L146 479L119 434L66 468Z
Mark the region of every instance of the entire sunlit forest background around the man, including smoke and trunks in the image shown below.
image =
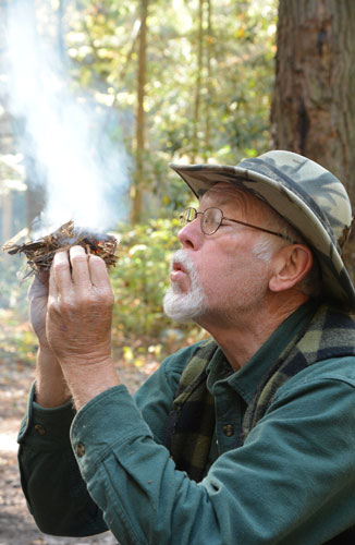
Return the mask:
M354 36L351 0L0 0L0 244L72 205L119 238L113 355L131 391L204 336L162 313L193 203L169 162L290 149L338 175L354 206ZM355 233L344 259L355 279ZM23 266L0 252L0 543L81 543L41 534L20 488L37 349Z

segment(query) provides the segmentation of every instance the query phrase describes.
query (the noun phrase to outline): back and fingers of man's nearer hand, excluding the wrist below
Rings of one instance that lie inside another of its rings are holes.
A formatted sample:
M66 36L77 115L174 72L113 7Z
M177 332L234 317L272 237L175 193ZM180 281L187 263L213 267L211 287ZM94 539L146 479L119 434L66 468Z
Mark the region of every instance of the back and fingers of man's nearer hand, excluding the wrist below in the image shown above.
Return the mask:
M56 255L50 280L46 331L65 365L88 365L110 358L113 294L106 265L79 246Z

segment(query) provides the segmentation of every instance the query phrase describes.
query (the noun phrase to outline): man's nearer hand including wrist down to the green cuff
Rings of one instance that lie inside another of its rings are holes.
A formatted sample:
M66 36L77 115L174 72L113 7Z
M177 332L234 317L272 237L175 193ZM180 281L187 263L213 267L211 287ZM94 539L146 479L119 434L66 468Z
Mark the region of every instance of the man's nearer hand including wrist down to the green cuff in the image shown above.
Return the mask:
M111 361L113 293L105 262L73 246L56 254L49 281L48 342L79 408L119 384Z

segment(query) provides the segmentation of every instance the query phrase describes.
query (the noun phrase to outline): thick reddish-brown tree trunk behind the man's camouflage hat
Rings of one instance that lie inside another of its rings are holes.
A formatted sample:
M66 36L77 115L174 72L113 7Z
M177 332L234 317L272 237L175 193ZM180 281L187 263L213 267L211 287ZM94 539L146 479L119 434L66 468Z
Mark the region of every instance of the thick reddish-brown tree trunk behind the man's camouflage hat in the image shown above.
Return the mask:
M273 147L333 172L355 209L355 2L280 0ZM355 279L355 230L344 250Z

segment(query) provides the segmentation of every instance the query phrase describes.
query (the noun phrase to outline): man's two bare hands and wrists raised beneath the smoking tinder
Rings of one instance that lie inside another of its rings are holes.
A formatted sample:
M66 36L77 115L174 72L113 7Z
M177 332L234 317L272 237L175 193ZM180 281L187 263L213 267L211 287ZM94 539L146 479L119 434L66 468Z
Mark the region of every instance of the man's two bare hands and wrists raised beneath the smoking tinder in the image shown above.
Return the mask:
M59 252L50 275L28 291L29 317L38 337L36 400L77 409L119 384L111 353L113 294L106 264L81 246Z

